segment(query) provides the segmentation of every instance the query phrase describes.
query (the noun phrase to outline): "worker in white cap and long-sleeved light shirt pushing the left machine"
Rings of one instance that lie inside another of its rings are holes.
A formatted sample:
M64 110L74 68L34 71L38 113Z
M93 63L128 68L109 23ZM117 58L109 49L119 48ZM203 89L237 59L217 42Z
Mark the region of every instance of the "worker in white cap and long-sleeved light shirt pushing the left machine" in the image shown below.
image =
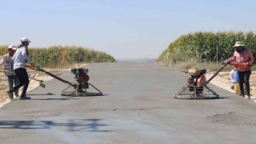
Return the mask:
M30 84L29 76L26 72L26 62L32 64L32 61L28 56L28 46L30 44L30 40L28 38L22 38L21 42L22 44L18 46L18 49L12 58L14 61L14 72L18 76L20 82L18 85L15 85L12 89L7 91L10 99L14 98L14 91L18 90L18 88L22 86L23 90L20 99L31 99L30 97L26 97L26 90Z

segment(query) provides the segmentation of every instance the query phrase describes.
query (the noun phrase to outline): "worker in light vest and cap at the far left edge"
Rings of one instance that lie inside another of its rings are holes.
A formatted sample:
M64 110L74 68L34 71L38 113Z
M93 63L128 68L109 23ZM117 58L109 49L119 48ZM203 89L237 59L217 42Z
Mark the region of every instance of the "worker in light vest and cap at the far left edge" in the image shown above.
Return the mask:
M14 85L17 85L19 82L18 77L14 73L14 62L12 57L14 56L16 47L14 45L8 46L8 53L2 56L2 60L0 62L0 66L4 67L3 72L7 76L9 90L13 88ZM16 97L18 97L18 89L14 91Z

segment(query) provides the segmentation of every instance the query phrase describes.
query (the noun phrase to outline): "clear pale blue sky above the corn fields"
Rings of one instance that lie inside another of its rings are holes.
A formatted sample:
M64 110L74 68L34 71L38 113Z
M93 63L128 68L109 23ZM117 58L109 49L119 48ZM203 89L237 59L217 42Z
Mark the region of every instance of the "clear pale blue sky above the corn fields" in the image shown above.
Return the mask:
M194 31L255 32L254 0L0 0L0 45L77 45L114 58L158 58Z

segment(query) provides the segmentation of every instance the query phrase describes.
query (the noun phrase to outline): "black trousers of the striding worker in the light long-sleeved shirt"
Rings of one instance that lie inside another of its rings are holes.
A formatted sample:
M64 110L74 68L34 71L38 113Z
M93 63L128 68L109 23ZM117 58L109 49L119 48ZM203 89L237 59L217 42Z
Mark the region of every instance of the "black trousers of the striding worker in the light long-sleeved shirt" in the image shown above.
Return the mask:
M14 91L18 90L20 87L23 86L21 97L25 97L26 90L30 84L30 79L26 72L26 69L19 68L19 69L14 70L14 72L15 72L16 76L19 78L19 82L18 82L18 85L15 85L12 89L10 89L10 92L13 93Z

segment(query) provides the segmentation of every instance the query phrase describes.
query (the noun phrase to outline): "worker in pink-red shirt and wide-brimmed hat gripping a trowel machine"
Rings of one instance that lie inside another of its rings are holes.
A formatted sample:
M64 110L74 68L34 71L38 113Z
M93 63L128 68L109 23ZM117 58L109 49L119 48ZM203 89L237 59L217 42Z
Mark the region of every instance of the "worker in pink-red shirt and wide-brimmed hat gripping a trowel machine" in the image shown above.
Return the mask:
M252 52L242 44L242 42L235 42L234 44L234 55L226 62L235 62L240 66L234 67L234 70L238 70L239 86L241 90L241 96L250 99L250 65L254 62L254 56ZM243 65L245 64L245 65ZM245 83L246 91L244 90L243 84ZM246 93L245 93L246 92Z

